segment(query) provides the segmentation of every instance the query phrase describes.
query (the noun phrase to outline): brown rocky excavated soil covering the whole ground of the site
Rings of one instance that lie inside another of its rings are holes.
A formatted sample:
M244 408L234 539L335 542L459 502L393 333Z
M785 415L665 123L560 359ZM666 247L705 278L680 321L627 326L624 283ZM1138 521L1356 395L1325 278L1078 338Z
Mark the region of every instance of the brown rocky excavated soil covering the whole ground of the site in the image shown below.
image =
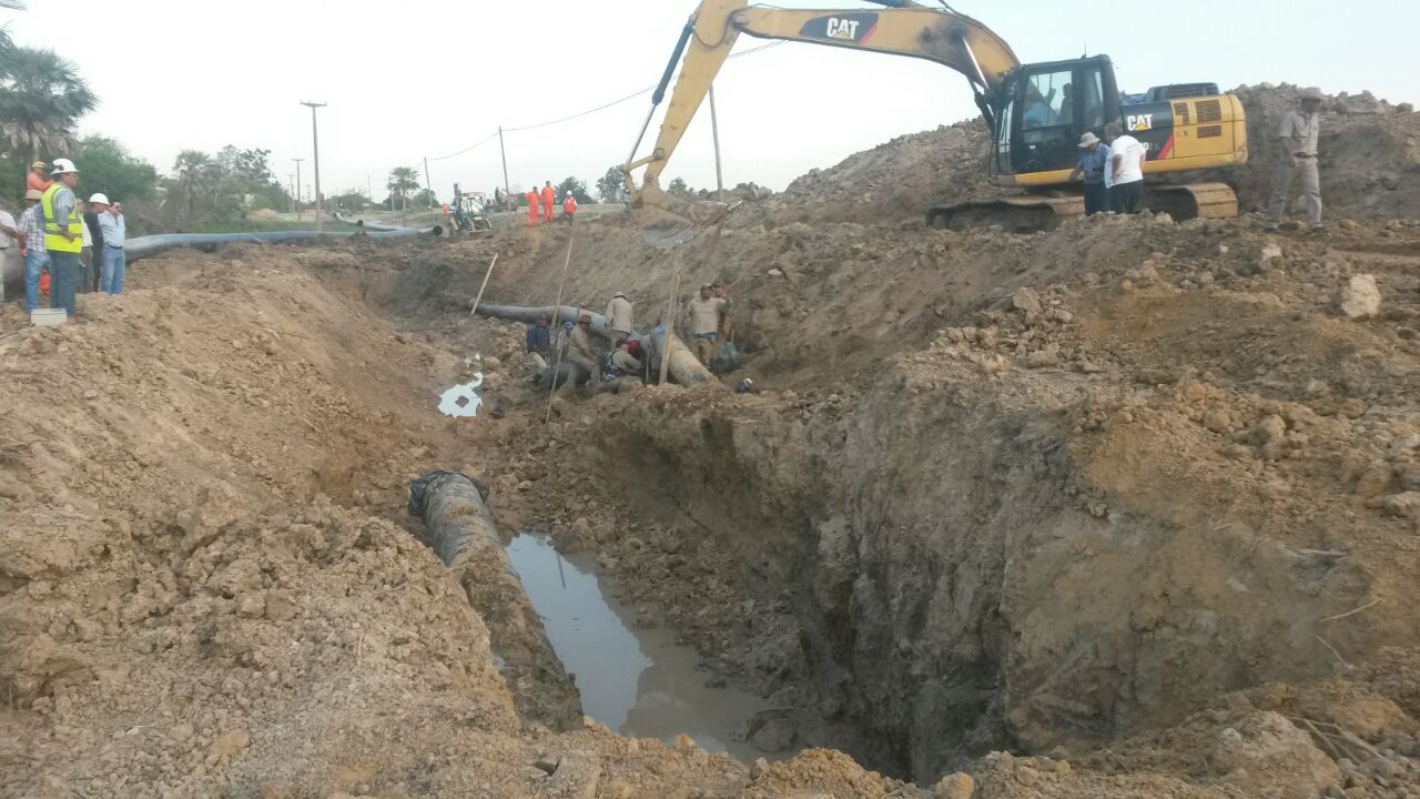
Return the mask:
M1329 236L927 230L905 175L974 171L968 124L679 253L579 223L572 304L643 327L677 269L723 280L746 361L547 424L521 326L467 304L494 253L490 300L548 303L567 227L169 253L84 326L4 309L0 796L1416 795L1414 115L1329 108L1323 148L1389 136L1375 182L1323 165ZM480 364L488 412L439 417ZM419 543L437 468L808 749L569 718L523 599Z

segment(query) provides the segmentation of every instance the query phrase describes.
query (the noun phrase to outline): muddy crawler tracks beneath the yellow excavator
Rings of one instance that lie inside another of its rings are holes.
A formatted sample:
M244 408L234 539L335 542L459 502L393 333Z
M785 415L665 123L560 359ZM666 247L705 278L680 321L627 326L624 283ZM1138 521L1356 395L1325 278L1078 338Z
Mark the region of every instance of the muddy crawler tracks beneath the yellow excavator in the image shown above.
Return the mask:
M1174 220L1233 219L1238 215L1238 198L1225 183L1149 185L1145 208L1167 213ZM1065 219L1085 215L1085 199L1079 196L995 198L927 209L927 226L937 230L977 230L1000 227L1007 233L1039 233L1054 230Z

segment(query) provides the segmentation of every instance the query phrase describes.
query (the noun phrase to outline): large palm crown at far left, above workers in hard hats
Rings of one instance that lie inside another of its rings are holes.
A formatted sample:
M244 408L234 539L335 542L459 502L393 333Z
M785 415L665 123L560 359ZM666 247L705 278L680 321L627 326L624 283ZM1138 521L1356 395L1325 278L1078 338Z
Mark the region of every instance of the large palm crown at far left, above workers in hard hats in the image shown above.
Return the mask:
M0 142L24 158L74 145L74 125L98 97L53 50L0 50Z

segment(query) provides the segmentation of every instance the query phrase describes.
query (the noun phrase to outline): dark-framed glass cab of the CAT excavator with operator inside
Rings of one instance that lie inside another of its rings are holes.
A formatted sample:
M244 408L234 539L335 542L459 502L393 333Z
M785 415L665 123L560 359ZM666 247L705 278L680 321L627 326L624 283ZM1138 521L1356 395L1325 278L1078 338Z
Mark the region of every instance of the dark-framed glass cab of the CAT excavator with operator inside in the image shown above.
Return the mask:
M1024 64L994 100L991 175L1004 185L1032 185L1034 175L1072 169L1085 131L1103 135L1105 125L1120 119L1108 55Z

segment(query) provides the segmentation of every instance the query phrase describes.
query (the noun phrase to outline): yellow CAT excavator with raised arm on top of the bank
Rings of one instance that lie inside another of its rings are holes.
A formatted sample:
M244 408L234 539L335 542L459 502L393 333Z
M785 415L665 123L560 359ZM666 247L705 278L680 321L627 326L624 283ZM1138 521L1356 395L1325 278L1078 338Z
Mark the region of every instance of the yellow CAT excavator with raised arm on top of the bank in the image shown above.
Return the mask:
M1079 139L1086 131L1103 135L1110 122L1146 146L1146 175L1247 161L1242 104L1220 94L1216 84L1174 84L1125 97L1108 55L1021 64L1000 36L946 3L939 9L913 0L868 1L883 9L790 10L750 6L747 0L703 0L682 31L630 159L622 166L632 205L660 208L700 225L714 223L728 210L723 203L672 196L659 181L740 34L926 58L964 75L991 129L987 168L993 183L1025 192L929 208L926 220L939 229L1003 225L1014 232L1044 230L1083 213L1078 185L1069 182ZM656 146L638 159L682 57L684 65ZM642 166L638 185L633 171ZM1174 219L1237 216L1237 196L1225 183L1149 181L1145 202Z

